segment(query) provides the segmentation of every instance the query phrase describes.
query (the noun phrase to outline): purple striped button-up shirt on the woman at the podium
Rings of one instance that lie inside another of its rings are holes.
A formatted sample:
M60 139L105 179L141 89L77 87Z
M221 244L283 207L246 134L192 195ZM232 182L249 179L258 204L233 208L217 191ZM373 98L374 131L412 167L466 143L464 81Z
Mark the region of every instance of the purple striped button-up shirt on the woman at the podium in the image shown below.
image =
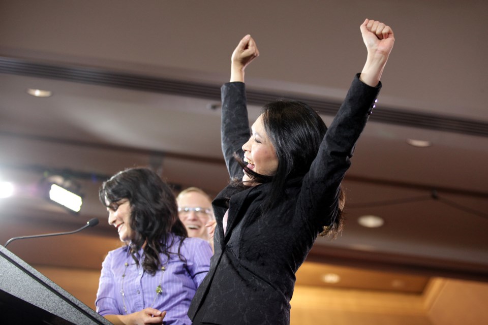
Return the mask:
M178 251L180 238L174 236L174 239L174 244L169 249L171 252ZM142 252L141 249L140 256ZM212 250L208 242L202 239L187 238L181 245L180 253L186 258L186 263L177 255L170 254L163 276L161 270L156 272L155 276L151 276L144 272L140 262L139 266L136 265L128 246L108 252L102 263L95 301L97 312L102 316L126 314L121 295L122 275L125 271L124 300L127 314L153 307L161 311L166 310L164 324L191 324L187 316L188 308L197 287L208 272ZM160 254L160 259L164 265L167 257ZM127 270L125 263L129 264ZM160 284L163 292L156 295L156 287Z

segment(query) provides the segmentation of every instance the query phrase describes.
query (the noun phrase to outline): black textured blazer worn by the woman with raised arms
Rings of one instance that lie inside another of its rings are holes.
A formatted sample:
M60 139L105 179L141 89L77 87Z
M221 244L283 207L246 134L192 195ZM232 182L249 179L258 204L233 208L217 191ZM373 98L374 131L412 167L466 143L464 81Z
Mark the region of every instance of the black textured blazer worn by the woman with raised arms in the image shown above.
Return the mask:
M262 216L270 184L245 190L229 185L212 202L215 254L190 306L190 319L198 312L199 321L212 324L289 324L295 272L322 225L337 215L339 185L381 88L362 83L358 76L309 173L287 183L279 205ZM222 150L231 178L243 176L233 153L242 156L241 146L250 136L245 92L241 82L222 86Z

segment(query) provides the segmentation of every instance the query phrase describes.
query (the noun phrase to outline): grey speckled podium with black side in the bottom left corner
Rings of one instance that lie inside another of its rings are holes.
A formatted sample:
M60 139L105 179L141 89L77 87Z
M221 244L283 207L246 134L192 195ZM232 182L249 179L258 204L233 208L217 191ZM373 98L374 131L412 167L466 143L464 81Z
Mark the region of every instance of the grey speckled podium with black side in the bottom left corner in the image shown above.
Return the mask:
M0 323L2 325L112 324L2 245L0 245Z

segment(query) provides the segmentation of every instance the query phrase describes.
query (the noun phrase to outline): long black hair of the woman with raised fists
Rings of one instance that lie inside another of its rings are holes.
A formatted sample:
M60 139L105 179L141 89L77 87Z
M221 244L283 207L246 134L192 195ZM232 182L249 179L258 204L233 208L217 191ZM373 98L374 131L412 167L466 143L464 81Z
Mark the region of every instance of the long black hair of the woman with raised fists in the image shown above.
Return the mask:
M267 211L283 200L286 183L301 180L307 174L317 156L320 144L327 132L322 118L309 105L288 100L266 104L262 109L265 131L275 147L278 169L275 175L258 174L249 169L240 157L236 157L246 174L256 183L271 183L268 198L263 207ZM338 192L339 210L332 223L324 220L320 235L337 236L343 228L342 208L345 194L342 186Z

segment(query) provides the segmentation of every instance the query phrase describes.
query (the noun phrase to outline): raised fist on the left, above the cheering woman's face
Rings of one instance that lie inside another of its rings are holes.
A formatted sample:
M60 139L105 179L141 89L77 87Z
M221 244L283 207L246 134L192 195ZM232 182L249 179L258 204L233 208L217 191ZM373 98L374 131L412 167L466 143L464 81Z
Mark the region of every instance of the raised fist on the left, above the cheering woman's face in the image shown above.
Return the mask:
M246 35L232 53L230 81L244 82L244 70L259 56L259 50L251 35Z

